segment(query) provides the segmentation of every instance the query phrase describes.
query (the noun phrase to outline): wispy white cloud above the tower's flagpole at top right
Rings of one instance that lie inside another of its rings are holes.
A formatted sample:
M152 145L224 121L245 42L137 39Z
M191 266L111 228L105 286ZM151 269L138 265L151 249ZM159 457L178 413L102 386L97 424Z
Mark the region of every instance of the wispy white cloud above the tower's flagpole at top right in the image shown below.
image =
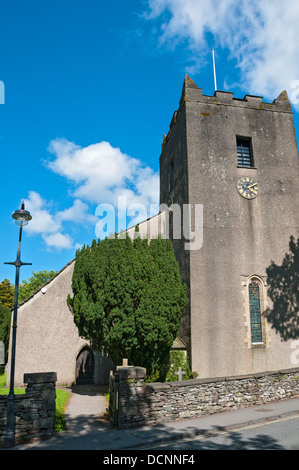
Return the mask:
M226 48L246 91L276 98L299 79L298 0L149 0L148 20L160 19L160 43L187 41L200 62L210 48ZM217 50L216 50L217 52Z

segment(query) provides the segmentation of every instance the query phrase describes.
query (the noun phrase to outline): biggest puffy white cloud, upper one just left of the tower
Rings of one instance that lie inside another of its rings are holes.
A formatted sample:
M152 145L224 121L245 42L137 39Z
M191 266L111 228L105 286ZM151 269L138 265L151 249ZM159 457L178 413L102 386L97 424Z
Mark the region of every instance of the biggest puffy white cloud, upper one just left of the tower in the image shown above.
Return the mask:
M127 198L128 205L158 203L158 173L109 142L79 147L66 139L56 139L48 150L55 156L48 167L73 184L73 195L80 200L114 207L121 196Z

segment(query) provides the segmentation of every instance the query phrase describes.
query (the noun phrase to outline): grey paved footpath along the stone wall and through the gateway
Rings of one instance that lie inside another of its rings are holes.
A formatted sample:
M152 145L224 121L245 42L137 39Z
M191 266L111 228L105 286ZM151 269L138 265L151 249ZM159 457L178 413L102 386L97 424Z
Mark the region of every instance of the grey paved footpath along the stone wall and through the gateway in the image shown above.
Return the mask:
M104 418L107 407L105 391L103 387L97 386L74 387L67 407L67 431L44 441L15 446L13 450L137 450L144 445L150 448L157 442L299 415L299 397L296 397L201 418L119 430Z

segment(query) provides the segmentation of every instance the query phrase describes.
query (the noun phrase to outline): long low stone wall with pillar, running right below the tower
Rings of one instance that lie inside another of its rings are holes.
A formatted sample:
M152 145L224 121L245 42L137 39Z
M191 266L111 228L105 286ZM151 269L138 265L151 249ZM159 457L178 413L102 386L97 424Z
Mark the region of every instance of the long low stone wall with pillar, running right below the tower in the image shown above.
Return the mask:
M299 368L239 377L145 384L141 367L118 371L118 427L194 418L299 395Z

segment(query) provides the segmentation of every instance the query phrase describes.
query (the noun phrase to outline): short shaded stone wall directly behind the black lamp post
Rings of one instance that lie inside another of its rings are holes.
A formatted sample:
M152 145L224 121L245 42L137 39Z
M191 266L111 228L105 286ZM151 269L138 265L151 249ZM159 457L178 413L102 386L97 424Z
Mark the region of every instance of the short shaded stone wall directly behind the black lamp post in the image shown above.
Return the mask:
M25 395L15 395L15 443L51 436L56 409L56 372L24 374ZM0 395L0 447L6 432L7 395Z

